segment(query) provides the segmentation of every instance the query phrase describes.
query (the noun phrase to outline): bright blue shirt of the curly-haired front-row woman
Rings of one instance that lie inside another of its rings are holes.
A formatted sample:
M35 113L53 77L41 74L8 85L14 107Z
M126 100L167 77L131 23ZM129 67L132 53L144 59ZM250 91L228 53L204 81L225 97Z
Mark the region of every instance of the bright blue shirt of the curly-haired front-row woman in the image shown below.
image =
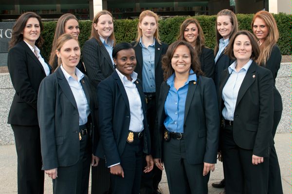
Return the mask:
M170 132L183 133L184 106L188 91L188 83L197 81L197 75L190 70L190 75L183 87L178 90L174 88L174 77L172 74L166 81L170 87L164 103L164 111L166 118L164 120L165 128Z

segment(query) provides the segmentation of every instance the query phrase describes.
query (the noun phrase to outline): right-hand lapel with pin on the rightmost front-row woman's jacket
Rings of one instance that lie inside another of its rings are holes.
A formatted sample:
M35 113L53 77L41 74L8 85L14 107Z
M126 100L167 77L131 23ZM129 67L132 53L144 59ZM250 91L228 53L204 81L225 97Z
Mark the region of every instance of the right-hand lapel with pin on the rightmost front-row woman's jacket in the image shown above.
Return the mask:
M246 75L242 81L242 84L239 88L238 95L237 95L237 101L236 101L236 106L237 107L238 103L242 99L243 95L247 91L247 89L254 83L256 80L256 62L253 61L251 66L249 67L248 71L246 72ZM255 75L255 76L254 76Z

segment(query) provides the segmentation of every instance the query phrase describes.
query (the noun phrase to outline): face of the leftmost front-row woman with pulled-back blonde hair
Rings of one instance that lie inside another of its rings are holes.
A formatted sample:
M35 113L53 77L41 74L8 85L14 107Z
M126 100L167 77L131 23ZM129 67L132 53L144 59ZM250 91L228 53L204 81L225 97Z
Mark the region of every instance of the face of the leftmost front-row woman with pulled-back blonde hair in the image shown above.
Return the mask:
M80 59L80 47L75 39L67 40L56 54L62 60L62 66L66 69L72 69L77 66Z

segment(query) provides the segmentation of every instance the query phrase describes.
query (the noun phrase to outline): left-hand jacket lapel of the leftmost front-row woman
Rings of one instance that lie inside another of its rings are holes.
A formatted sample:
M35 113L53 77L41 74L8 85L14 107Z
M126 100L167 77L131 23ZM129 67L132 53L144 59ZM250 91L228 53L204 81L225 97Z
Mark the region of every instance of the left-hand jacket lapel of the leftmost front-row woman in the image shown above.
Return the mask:
M56 75L57 75L57 78L58 78L58 84L60 86L60 88L62 89L62 91L64 92L65 96L68 98L68 100L72 103L72 105L76 108L77 108L77 105L76 105L76 101L75 101L75 98L73 96L73 93L72 93L72 90L61 70L61 68L58 68L56 70Z

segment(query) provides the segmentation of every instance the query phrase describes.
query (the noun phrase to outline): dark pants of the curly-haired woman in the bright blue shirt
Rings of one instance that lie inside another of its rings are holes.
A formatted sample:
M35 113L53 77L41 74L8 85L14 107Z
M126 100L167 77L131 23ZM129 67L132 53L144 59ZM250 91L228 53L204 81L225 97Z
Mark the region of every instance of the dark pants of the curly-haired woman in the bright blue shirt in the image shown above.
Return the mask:
M203 176L204 164L189 164L184 140L164 141L164 167L170 194L208 194L210 173Z

